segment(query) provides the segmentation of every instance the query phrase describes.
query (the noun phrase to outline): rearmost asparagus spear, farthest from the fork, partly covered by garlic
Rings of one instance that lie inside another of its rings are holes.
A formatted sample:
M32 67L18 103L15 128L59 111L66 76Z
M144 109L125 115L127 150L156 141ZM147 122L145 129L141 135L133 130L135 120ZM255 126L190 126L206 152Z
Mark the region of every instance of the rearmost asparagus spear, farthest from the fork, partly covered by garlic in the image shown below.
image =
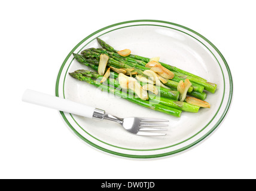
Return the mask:
M99 44L102 46L102 48L105 48L105 50L108 51L112 51L114 53L117 53L117 50L115 50L113 47L111 47L110 45L106 44L106 42L102 41L102 39L97 38L97 41L99 42ZM134 54L130 54L129 56L127 56L129 58L134 58L135 60L142 60L143 62L140 62L139 64L142 64L142 66L145 66L145 63L148 63L150 61L150 58L146 58L146 57L142 57L142 56L138 56L138 55L134 55ZM200 81L205 81L207 82L206 79L201 78L200 76L194 75L193 73L190 72L186 72L185 70L179 69L178 67L175 66L170 66L169 64L165 64L160 62L162 66L166 67L167 69L169 69L172 72L177 72L177 73L182 73L184 75L187 76L191 76L197 79L200 79ZM211 83L214 87L216 86L216 84ZM216 90L216 88L215 88ZM214 90L214 91L215 91Z

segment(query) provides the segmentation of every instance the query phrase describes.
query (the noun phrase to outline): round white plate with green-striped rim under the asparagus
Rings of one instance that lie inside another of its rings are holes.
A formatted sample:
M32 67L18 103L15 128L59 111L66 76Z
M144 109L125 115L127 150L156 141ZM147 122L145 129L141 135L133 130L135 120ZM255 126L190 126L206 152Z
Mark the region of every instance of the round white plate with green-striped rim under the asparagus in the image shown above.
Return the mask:
M182 112L181 118L145 109L68 75L88 69L74 60L72 53L100 47L99 37L116 50L129 48L133 54L160 57L180 69L194 73L218 85L214 94L207 93L210 109L198 113ZM134 20L112 24L97 30L79 42L68 54L59 70L56 96L68 98L105 110L121 118L142 116L169 119L166 136L143 137L127 133L111 121L97 121L60 112L65 123L86 143L114 155L130 158L156 158L173 155L208 137L223 121L230 107L233 85L228 65L208 39L179 24L158 20Z

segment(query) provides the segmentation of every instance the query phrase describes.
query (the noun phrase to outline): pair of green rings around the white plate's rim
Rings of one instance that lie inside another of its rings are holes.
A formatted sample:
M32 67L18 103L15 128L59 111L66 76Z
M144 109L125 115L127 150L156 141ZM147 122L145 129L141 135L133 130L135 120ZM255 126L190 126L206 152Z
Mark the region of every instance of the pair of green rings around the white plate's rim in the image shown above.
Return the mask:
M206 39L204 36L200 35L199 33L195 32L194 30L191 30L189 29L188 27L185 27L185 26L181 26L180 24L175 24L175 23L170 23L168 21L161 21L161 20L131 20L131 21L124 21L124 22L121 22L121 23L116 23L116 24L112 24L110 26L106 26L106 27L103 27L102 29L99 29L97 30L96 32L92 33L91 35L87 36L86 38L84 38L81 42L79 42L72 50L71 52L68 54L68 56L65 58L65 60L63 61L62 63L62 66L60 67L60 70L59 70L59 73L58 73L58 76L57 76L57 81L56 81L56 96L59 97L59 80L60 80L60 76L62 74L62 70L63 70L63 67L65 66L66 64L66 61L68 61L69 57L72 55L72 53L74 53L75 50L77 50L77 48L83 44L84 41L86 41L87 39L89 39L90 37L96 35L97 33L99 32L102 32L103 30L105 29L109 29L113 26L118 26L118 25L121 25L121 24L127 24L127 23L137 23L137 22L153 22L153 23L166 23L166 24L170 24L170 25L173 25L173 26L178 26L178 27L182 27L183 29L186 29L190 32L193 32L194 34L196 34L197 36L200 36L200 38L204 39L206 42L208 42L212 48L214 48L215 51L217 51L217 53L219 54L219 56L222 58L224 64L225 64L225 67L227 68L227 72L228 72L228 77L229 77L229 80L230 80L230 93L229 93L229 97L228 97L228 102L227 102L227 106L225 107L225 110L223 112L223 115L221 116L221 118L219 119L219 121L214 125L214 127L211 128L211 130L208 131L208 133L206 133L205 135L203 135L202 137L200 137L198 140L194 141L193 143L185 146L185 147L182 147L180 149L177 149L177 150L173 150L171 152L166 152L166 153L160 153L160 154L156 154L156 155L130 155L130 154L125 154L125 153L119 153L119 152L114 152L112 150L108 150L108 149L105 149L103 147L100 147L98 146L97 144L95 143L92 143L92 141L89 141L87 140L86 138L83 137L83 135L81 135L80 133L78 133L77 130L75 130L74 127L72 127L72 125L69 123L68 119L66 118L65 114L63 112L60 112L60 114L62 115L64 121L66 122L66 124L72 129L72 131L74 131L75 134L78 135L78 137L80 137L82 140L84 140L86 143L90 144L91 146L93 147L96 147L97 149L100 149L104 152L108 152L108 153L111 153L113 155L118 155L118 156L124 156L124 157L129 157L129 158L157 158L157 157L162 157L162 156L168 156L168 155L173 155L175 153L179 153L181 151L184 151L184 150L187 150L188 148L194 146L195 144L199 143L200 141L202 141L203 139L205 139L206 137L208 137L209 134L211 134L219 125L220 123L223 121L223 119L225 118L225 115L227 114L228 112L228 109L230 107L230 104L231 104L231 100L232 100L232 96L233 96L233 81L232 81L232 77L231 77L231 72L230 72L230 69L228 67L228 64L227 64L227 61L225 61L225 58L223 57L223 55L220 53L220 51L215 47L214 44L212 44L208 39ZM168 26L162 26L162 25L159 25L159 24L134 24L134 25L129 25L129 26L123 26L123 27L131 27L131 26L143 26L143 25L147 25L147 26L160 26L160 27L168 27ZM123 27L119 27L117 29L121 29ZM172 27L168 27L170 29L175 29L175 28L172 28ZM117 29L113 29L113 30L117 30ZM108 32L106 33L109 33L113 30L109 30ZM178 29L175 29L175 30L178 30ZM184 31L182 30L178 30L179 32L182 32L182 33L185 33ZM103 33L102 35L104 35L105 33ZM196 39L197 41L199 41L199 39L195 38L194 36L186 33L187 35L193 37L194 39ZM99 36L102 36L102 35L99 35ZM99 37L97 36L97 37ZM92 39L90 42L92 42L94 39ZM87 44L89 44L90 42L88 42ZM199 41L200 43L202 43L201 41ZM86 44L86 45L87 45ZM202 43L203 44L203 43ZM84 47L86 47L86 45L84 45ZM206 45L203 44L205 47ZM83 50L83 48L81 48L81 50ZM208 48L208 47L206 47ZM78 53L81 51L79 50ZM209 50L209 48L208 48ZM209 50L211 53L212 51ZM215 57L215 59L217 60L217 57L212 53L212 55ZM71 63L72 61L74 60L74 58L71 60ZM218 61L218 60L217 60ZM69 66L71 65L71 63L69 63ZM218 64L220 65L219 61L218 61ZM68 68L69 68L68 66ZM221 67L221 66L220 66ZM221 68L221 71L223 72L223 69ZM66 70L66 73L65 73L65 77L64 77L64 82L63 82L63 96L65 98L65 93L64 93L64 84L65 84L65 78L66 78L66 74L68 72L68 69ZM224 77L224 74L223 74L223 77ZM223 78L224 79L224 78ZM225 93L225 79L224 79L224 93ZM224 98L224 93L223 93L223 98ZM221 104L223 103L223 99L221 101ZM221 107L221 105L220 105ZM220 107L218 110L220 110ZM217 111L218 113L218 111ZM217 115L217 113L215 113L214 117ZM74 117L72 116L72 114L69 114L71 115L71 118L75 121ZM214 118L211 119L211 121L213 120ZM199 134L201 131L203 131L210 123L211 121L204 127L202 128L202 130L200 130L198 133L194 134L193 136L191 136L190 138L196 136L197 134ZM84 131L87 133L87 131L85 131L78 123L77 121L75 121L75 123ZM89 134L89 133L87 133ZM89 134L90 135L90 134ZM91 137L93 137L92 135L90 135ZM95 137L93 137L95 138ZM190 138L187 138L187 140L189 140ZM98 141L101 141L97 138L95 138L96 140ZM185 141L187 140L184 140L182 141L181 143L184 143ZM105 143L103 141L101 141L102 143ZM172 146L176 146L178 144L181 144L181 143L177 143L177 144L174 144ZM105 143L105 144L108 144L109 146L114 146L112 144L109 144L109 143ZM172 147L172 146L167 146L167 147L163 147L163 148L159 148L159 149L166 149L168 147ZM114 146L114 147L117 147L117 148L120 148L120 149L126 149L126 150L139 150L139 149L127 149L127 148L123 148L123 147L118 147L118 146ZM159 149L147 149L147 150L139 150L139 151L148 151L148 150L159 150Z

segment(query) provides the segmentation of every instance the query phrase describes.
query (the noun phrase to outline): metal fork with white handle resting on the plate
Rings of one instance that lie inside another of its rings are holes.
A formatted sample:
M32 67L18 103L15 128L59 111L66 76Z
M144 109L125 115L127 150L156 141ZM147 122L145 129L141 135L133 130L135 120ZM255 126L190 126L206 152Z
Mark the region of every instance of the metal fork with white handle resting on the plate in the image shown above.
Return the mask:
M105 110L97 109L95 107L87 106L85 104L77 103L71 100L67 100L65 98L40 93L34 90L26 90L23 94L22 101L38 104L40 106L50 107L52 109L57 109L62 112L72 113L87 118L107 119L110 121L114 121L122 125L125 130L129 131L129 133L133 133L136 135L166 135L166 133L159 133L156 131L166 130L161 127L167 127L168 124L163 124L161 122L169 122L169 120L166 119L156 118L118 118L117 116L106 113Z

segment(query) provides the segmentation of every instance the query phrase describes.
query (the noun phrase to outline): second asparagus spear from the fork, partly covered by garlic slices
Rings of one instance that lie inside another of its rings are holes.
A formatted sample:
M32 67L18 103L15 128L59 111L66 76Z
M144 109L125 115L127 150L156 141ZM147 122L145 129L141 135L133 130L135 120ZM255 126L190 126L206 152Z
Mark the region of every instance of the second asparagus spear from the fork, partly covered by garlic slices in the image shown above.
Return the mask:
M81 73L84 76L90 77L90 78L96 78L99 81L103 78L103 76L99 75L96 72L90 72L89 70L76 70L75 73ZM120 84L117 80L115 80L114 78L112 79L107 79L108 80L108 84L112 85L115 88L120 88ZM129 90L130 94L135 94L133 93L132 90ZM169 107L173 107L176 109L180 109L186 112L193 112L193 113L197 113L199 110L199 106L194 106L192 104L186 103L184 101L177 101L177 100L172 100L170 98L166 98L166 97L159 97L159 96L154 96L154 97L149 97L149 99L151 101L154 101L155 103L160 103L163 104L165 106L169 106Z

